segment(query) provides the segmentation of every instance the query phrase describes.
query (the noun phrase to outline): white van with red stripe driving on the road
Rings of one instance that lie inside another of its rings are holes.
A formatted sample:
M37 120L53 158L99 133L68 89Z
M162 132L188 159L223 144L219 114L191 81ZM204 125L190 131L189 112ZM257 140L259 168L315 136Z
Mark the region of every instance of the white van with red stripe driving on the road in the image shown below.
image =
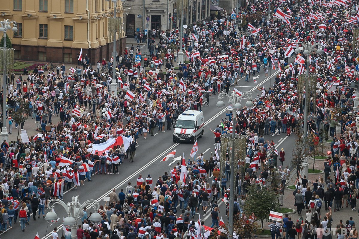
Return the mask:
M173 142L192 142L201 138L204 133L204 117L201 110L186 110L176 121L173 131Z

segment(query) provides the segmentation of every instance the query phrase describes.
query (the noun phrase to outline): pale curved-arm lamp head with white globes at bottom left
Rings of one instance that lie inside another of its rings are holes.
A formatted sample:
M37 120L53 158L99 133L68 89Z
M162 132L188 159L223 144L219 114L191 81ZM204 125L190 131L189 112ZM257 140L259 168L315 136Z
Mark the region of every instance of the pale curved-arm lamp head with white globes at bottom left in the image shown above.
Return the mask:
M71 229L71 239L77 239L77 235L76 235L76 230L78 228L77 221L81 219L81 217L83 216L84 207L93 206L95 211L97 211L100 208L99 203L93 199L87 200L83 204L81 204L79 200L79 196L72 197L72 200L70 202L67 202L67 204L65 204L60 199L51 199L48 202L48 208L53 209L55 204L61 205L67 213L67 217L65 218L62 224L67 229ZM48 212L45 216L45 220L50 224L55 223L58 218L59 217L54 211ZM93 224L98 224L101 222L101 220L102 220L102 216L98 212L94 212L90 216L90 221Z

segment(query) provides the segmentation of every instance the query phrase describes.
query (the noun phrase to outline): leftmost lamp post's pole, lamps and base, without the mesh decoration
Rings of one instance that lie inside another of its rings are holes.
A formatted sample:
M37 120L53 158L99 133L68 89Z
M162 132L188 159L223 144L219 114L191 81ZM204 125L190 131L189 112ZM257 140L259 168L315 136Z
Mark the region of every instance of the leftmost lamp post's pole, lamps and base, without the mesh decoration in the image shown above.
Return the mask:
M13 24L13 28L11 28L11 24ZM1 142L4 141L4 139L6 141L8 141L9 139L9 133L8 130L6 129L6 63L8 61L8 59L6 59L6 31L7 30L12 30L14 33L18 31L18 28L16 27L16 21L9 21L9 19L4 19L4 21L0 21L0 32L3 32L3 41L4 41L4 46L3 46L3 128L1 129L1 133L0 133L0 137L1 137Z

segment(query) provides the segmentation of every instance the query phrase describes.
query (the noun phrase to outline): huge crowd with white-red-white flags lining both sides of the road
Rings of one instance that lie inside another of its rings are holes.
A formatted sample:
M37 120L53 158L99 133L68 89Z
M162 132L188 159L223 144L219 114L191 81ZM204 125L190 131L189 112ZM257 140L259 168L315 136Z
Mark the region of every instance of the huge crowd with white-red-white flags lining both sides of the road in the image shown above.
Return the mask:
M0 167L4 168L0 187L1 231L6 233L8 225L11 229L18 217L21 230L25 231L31 214L33 220L44 218L48 200L62 200L64 191L71 190L73 185L75 189L83 186L84 180L91 181L96 172L119 173L124 159L134 162L136 144L146 140L147 133L153 137L155 129L161 133L171 130L178 115L186 109L202 110L205 104L209 106L210 95L229 92L231 85L252 80L257 83L253 76L261 71L270 77L270 87L258 82L253 107L239 110L236 118L227 111L227 118L214 130L217 138L216 134L232 130L247 136L246 171L244 175L238 172L233 176L236 177L235 215L241 216L248 187L265 186L274 168L281 174L280 204L283 205L290 171L283 164L285 150L278 152L270 136L291 135L303 127L304 102L300 99L304 97L298 96L301 92L298 75L306 70L317 75L316 95L309 99L308 133L315 144L327 140L328 133L333 142L331 158L324 164L325 177L313 183L312 190L306 176L298 172L302 183L297 183L295 204L298 215L303 209L308 211L306 220L298 220L301 221L296 228L298 239L302 230L303 238L308 238L309 224L326 229L332 213L348 203L355 210L359 139L353 116L356 89L350 83L358 79L354 74L357 47L352 44L356 41L353 28L358 27L358 9L355 8L353 15L351 6L355 4L339 0L311 1L297 7L295 1L272 1L272 4L275 11L269 20L266 19L268 4L257 1L236 9L243 19L242 25L227 16L194 24L186 31L183 46L180 46L178 29L159 31L158 36L148 40L150 61L145 68L134 61L134 53L140 53L140 49L132 46L122 57L102 62L102 66L108 64L109 72L99 72L100 62L94 67L85 56L81 62L83 67L67 70L62 64L53 71L38 67L25 75L26 70L18 76L16 89L13 87L16 77L11 74L8 90L2 92L7 97L5 107L9 110L4 122L9 124L9 133L13 123L20 129L31 124L30 119L20 125L13 119L19 99L29 108L23 116L31 116L41 133L31 137L29 143L18 139L1 144ZM137 38L143 41L143 36ZM302 41L318 42L324 54L304 52L298 43ZM174 64L180 47L190 62L180 62L177 69ZM297 48L299 53L294 51ZM310 54L308 69L304 53ZM111 78L113 70L116 70L116 79ZM113 82L117 84L116 94L111 88ZM242 94L237 89L234 91ZM2 101L0 103L3 107ZM59 122L52 121L54 115L60 116ZM117 143L122 137L128 138L129 143ZM93 150L93 145L109 139L116 139L111 150ZM219 199L229 195L229 163L224 167L222 178L217 155L188 162L188 177L184 181L176 177L180 167L177 165L159 177L157 183L150 175L139 176L135 185L129 182L118 195L113 192L109 204L100 211L104 218L102 227L84 217L83 225L77 230L78 238L111 235L115 239L174 239L183 238L186 231L188 235L197 235L196 230L204 238L225 238L226 235L218 235L216 229L220 221ZM331 210L333 199L334 211ZM320 222L322 205L328 212ZM205 229L205 225L199 229L194 216L201 211L206 214L207 209L213 223L209 229ZM228 203L226 216L227 211ZM350 231L352 229L353 226ZM293 239L291 235L289 238ZM325 239L320 234L317 238Z

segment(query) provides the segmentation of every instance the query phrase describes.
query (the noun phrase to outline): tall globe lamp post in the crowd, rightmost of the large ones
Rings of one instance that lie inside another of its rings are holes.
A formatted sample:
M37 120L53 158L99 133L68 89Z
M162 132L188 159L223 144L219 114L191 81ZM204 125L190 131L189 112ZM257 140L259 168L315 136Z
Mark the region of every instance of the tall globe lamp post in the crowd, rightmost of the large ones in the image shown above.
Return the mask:
M316 53L318 55L321 55L324 51L320 48L321 44L319 42L314 42L314 44L312 44L311 42L307 42L306 44L303 42L298 42L298 48L295 49L295 53L300 53L301 49L299 49L299 46L303 47L303 54L304 56L306 56L306 80L304 81L304 87L306 89L308 89L308 85L309 85L309 59L311 56L311 53L314 51L314 49L317 47L317 51ZM304 97L304 119L303 119L303 131L304 131L304 135L303 135L303 142L304 142L304 147L302 149L302 152L304 154L304 149L306 141L307 141L307 137L308 137L308 99L309 98L309 94L306 94L306 97ZM302 166L303 166L303 172L301 175L308 175L308 159L307 157L304 157Z

